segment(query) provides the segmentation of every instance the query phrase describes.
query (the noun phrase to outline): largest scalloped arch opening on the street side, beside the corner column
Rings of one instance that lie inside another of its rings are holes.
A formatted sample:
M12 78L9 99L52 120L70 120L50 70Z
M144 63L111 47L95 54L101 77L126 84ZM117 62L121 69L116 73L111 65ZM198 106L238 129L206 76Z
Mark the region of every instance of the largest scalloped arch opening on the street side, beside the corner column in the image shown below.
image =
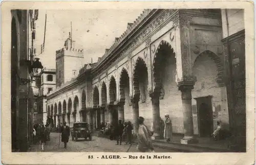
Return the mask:
M165 114L169 114L171 120L174 117L171 115L173 111L180 113L178 116L183 115L179 110L182 107L182 101L181 93L177 87L176 69L174 49L168 42L161 41L153 60L153 83L155 84L154 94L152 95L154 136L163 137L164 123L162 119L164 119ZM164 108L161 108L161 105L164 105ZM175 110L174 105L177 105L177 110ZM180 121L179 124L183 126L183 121ZM183 132L183 130L179 131Z

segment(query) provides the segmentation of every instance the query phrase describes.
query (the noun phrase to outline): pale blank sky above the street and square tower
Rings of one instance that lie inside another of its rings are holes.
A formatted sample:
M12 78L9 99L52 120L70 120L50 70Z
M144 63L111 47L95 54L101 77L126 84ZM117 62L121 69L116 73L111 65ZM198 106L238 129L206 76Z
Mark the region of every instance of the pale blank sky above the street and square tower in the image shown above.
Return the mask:
M44 42L45 17L46 38L45 52L38 57L46 68L55 68L56 50L64 47L69 37L72 21L72 40L84 51L84 63L91 63L102 57L127 28L128 22L134 22L141 10L39 10L36 21L37 53ZM77 46L76 46L77 47Z

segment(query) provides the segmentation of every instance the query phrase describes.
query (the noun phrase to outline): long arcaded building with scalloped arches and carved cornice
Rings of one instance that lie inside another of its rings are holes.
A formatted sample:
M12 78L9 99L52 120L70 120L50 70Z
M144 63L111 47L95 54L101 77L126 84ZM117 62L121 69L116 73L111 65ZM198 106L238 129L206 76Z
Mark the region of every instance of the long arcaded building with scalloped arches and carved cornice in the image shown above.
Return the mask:
M173 133L184 134L182 144L208 137L217 121L230 130L222 15L219 9L145 9L96 63L47 95L48 115L55 125L87 121L92 130L131 121L135 131L143 116L158 139L160 120L169 114Z

